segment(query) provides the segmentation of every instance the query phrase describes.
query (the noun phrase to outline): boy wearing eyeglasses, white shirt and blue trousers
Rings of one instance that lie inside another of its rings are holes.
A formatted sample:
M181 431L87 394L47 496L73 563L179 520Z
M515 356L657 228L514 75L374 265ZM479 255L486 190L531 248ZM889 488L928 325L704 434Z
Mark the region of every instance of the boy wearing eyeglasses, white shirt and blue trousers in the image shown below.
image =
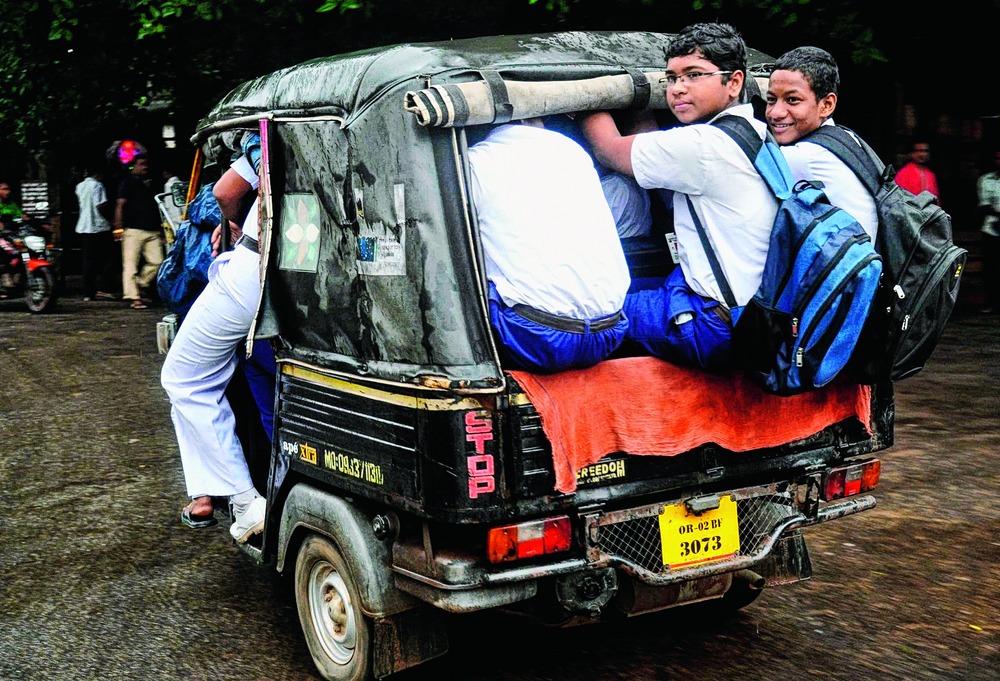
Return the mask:
M732 368L732 324L760 285L777 202L736 142L708 123L742 116L761 139L766 126L754 119L750 104L740 103L747 50L732 26L693 24L664 53L667 104L680 126L622 136L608 112L596 112L584 117L582 128L599 162L644 188L674 192L680 267L665 280L633 282L624 309L628 341L677 364L724 372ZM689 206L704 226L736 309L722 302Z

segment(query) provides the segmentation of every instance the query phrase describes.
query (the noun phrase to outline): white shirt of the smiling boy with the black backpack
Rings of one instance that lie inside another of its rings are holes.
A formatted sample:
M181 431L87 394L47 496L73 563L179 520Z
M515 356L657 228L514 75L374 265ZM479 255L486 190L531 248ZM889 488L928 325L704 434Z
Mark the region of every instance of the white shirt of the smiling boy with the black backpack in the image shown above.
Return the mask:
M833 119L826 119L823 125L833 125ZM830 199L830 203L850 213L872 241L875 241L875 234L878 232L875 199L853 170L844 165L832 151L810 142L808 138L782 146L781 152L788 161L796 182L809 180L822 183L820 188Z

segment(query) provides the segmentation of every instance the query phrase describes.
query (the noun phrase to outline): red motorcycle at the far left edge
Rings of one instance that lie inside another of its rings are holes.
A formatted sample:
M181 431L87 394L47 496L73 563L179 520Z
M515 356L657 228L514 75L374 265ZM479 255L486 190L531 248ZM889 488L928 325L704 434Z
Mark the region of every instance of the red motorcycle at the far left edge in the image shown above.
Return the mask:
M58 297L59 249L52 228L36 218L0 223L0 298L24 296L31 312L48 312Z

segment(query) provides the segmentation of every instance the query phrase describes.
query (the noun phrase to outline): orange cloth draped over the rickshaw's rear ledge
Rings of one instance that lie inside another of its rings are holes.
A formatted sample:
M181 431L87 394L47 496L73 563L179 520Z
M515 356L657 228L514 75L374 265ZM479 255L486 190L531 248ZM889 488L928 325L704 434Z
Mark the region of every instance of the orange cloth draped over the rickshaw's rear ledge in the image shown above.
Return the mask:
M828 385L792 397L742 374L715 376L654 357L601 362L552 375L511 371L542 416L556 489L614 452L674 456L714 442L744 452L809 437L856 416L871 431L871 388Z

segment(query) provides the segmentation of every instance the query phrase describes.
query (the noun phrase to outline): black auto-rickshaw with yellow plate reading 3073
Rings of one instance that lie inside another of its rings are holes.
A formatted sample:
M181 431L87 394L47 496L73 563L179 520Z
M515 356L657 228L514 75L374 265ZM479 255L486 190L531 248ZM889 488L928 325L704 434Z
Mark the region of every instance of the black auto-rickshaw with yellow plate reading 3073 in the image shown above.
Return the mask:
M630 428L628 411L676 368L613 358L567 388L500 360L470 143L527 117L669 116L669 40L565 32L365 50L251 80L199 124L193 142L220 163L241 130L262 137L264 286L248 345L273 345L278 376L274 441L255 464L267 520L242 548L292 576L324 678L383 678L443 654L444 613L565 626L700 601L736 610L811 575L802 528L874 506L891 385L773 402L739 376L685 379L691 399L721 391L731 409L676 451L581 453L567 418L590 420L595 437ZM751 51L751 74L769 61ZM652 237L625 240L633 276L672 266L669 213L657 219ZM777 429L796 405L800 431L741 439L739 419ZM606 409L624 418L604 425ZM656 427L690 427L684 411Z

